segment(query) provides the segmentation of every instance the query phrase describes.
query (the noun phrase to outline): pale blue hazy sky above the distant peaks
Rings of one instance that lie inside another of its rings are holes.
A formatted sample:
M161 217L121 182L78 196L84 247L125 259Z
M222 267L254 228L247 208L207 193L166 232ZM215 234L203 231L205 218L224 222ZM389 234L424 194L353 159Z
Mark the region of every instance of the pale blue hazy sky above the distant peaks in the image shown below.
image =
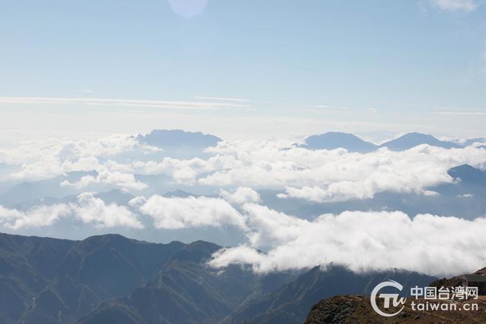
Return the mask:
M485 136L480 0L0 1L0 142Z

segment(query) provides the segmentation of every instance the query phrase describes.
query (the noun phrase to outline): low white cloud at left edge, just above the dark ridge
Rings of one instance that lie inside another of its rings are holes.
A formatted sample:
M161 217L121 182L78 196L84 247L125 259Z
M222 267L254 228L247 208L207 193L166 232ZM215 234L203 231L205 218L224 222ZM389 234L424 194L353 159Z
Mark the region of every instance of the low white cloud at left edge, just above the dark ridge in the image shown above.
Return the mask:
M126 206L106 204L101 198L86 192L77 197L76 203L40 205L27 211L0 206L0 225L13 230L50 226L61 218L72 217L98 228L124 226L143 228L137 215Z

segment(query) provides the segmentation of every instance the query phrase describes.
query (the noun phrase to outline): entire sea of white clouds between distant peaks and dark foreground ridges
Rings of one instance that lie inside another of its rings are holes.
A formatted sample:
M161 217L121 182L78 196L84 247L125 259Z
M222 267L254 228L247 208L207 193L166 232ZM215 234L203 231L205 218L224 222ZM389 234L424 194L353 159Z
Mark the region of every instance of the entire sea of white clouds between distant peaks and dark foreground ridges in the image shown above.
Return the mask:
M161 151L126 135L0 148L0 163L13 170L3 175L10 182L97 171L97 176L59 183L79 191L75 201L0 206L0 227L43 228L62 219L94 228L135 230L231 227L243 232L246 242L219 250L208 264L243 264L257 272L334 263L353 271L403 268L449 275L486 265L485 218L369 210L308 220L262 205L257 192L276 189L281 200L309 202L372 198L382 191L434 196L438 193L428 188L454 182L447 173L451 167L467 163L485 169L484 148L420 145L401 152L380 148L360 154L342 148L312 151L290 141L245 140L219 142L207 148L204 157L153 155ZM173 185L208 188L208 194L144 195L150 185L135 175L159 174L169 176ZM92 192L94 185L121 189L135 198L126 205L107 203Z

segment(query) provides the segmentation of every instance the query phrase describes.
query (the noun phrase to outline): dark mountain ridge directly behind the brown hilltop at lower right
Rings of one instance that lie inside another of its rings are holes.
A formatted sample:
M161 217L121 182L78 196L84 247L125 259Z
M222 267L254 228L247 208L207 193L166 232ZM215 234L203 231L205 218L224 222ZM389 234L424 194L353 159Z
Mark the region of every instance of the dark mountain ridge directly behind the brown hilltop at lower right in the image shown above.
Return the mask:
M376 284L388 279L401 282L405 289L415 284L424 286L434 280L409 271L354 273L342 266L329 266L324 271L316 266L278 289L246 301L221 324L244 323L245 320L261 324L303 323L310 307L321 298L370 293Z

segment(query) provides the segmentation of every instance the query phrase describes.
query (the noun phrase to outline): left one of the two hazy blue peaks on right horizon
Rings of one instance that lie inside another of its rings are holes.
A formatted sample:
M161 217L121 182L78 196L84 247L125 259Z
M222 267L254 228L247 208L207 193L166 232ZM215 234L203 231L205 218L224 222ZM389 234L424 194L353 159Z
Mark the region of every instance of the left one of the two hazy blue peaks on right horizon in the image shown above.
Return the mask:
M310 150L334 150L346 148L350 152L368 153L375 151L378 146L365 142L359 137L349 133L328 132L321 135L312 135L305 139L301 147Z

